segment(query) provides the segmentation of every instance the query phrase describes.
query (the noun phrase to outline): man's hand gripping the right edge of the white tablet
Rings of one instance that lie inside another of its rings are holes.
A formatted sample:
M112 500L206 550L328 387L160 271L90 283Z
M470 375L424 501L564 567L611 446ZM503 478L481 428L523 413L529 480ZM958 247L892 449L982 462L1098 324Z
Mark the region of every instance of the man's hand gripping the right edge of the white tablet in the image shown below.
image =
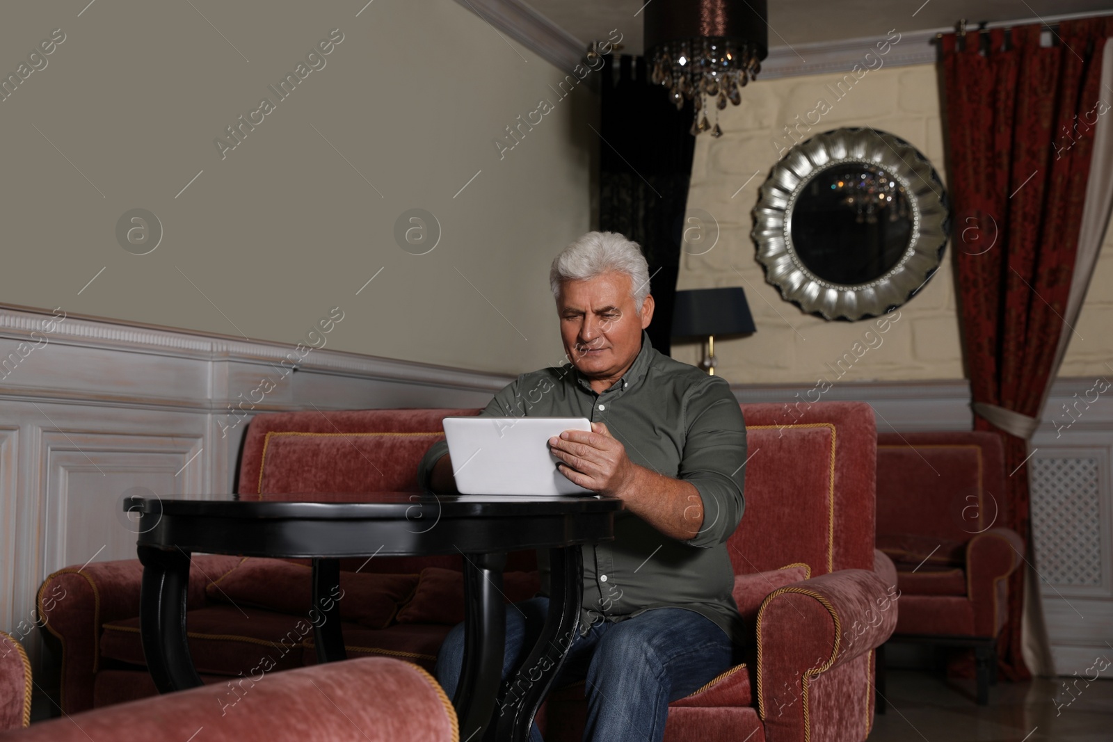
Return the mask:
M560 473L592 492L621 497L636 476L637 464L602 423L592 423L591 433L564 431L549 438L549 448L561 459Z

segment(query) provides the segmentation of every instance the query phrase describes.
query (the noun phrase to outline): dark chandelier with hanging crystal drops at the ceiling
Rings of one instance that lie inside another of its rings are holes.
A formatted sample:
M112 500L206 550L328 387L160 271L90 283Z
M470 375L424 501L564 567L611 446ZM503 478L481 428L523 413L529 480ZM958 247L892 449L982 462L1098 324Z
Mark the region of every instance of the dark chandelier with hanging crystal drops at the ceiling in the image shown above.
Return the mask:
M646 6L646 56L652 80L677 109L692 101L692 135L721 137L719 111L742 100L768 53L766 0L653 0ZM713 107L715 123L708 120Z

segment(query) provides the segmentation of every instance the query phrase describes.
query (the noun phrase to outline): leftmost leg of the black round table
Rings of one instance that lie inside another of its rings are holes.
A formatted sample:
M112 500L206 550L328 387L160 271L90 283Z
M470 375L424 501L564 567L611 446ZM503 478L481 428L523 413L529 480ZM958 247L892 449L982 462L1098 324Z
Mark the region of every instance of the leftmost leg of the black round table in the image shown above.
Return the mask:
M147 670L159 693L201 685L186 636L189 553L139 546L139 637Z

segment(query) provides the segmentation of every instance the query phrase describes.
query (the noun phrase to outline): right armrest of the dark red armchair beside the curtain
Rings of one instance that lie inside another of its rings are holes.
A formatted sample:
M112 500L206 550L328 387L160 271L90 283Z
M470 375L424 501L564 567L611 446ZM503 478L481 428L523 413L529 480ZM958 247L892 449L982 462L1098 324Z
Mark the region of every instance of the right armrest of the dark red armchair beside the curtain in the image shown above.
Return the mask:
M974 603L974 632L996 636L1005 624L1007 577L1024 560L1024 540L1012 528L989 528L966 544L966 595Z

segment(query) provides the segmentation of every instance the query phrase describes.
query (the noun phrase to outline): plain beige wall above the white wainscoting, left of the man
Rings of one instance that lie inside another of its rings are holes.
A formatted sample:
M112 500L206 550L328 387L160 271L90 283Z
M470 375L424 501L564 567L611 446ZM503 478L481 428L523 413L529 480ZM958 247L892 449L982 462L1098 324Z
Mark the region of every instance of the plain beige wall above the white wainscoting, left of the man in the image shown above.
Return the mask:
M598 147L583 83L559 99L563 72L453 0L82 4L0 23L6 76L66 36L0 102L0 301L292 345L338 306L334 349L494 372L559 357L548 265L589 228ZM268 90L335 28L324 68ZM275 110L221 159L214 139L264 97ZM553 110L500 158L540 99ZM144 256L115 235L137 207L165 230ZM395 243L411 208L443 230L424 256Z

